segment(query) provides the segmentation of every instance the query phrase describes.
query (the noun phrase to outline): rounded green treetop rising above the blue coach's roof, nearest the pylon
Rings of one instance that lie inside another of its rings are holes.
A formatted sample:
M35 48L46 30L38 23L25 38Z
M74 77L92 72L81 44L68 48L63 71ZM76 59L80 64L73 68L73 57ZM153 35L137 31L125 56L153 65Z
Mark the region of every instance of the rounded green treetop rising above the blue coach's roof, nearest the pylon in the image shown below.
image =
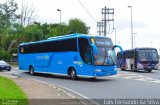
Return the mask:
M87 34L88 33L88 28L86 24L80 20L80 19L70 19L69 20L69 33L83 33Z

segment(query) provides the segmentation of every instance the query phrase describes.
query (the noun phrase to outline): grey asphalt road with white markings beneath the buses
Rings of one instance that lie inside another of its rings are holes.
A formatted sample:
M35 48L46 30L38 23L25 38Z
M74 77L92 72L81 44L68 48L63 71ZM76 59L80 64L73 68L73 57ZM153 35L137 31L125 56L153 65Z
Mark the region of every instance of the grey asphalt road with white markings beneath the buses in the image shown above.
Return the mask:
M68 77L47 74L31 76L15 69L11 72L5 71L5 73L53 83L71 89L89 99L160 99L160 71L158 70L151 73L118 71L115 76L76 81Z

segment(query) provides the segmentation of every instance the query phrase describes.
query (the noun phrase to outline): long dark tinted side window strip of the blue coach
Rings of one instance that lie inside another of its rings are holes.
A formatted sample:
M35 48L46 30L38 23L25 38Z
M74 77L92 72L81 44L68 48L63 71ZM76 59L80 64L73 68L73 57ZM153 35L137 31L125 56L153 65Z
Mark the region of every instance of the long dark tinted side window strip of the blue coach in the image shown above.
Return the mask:
M20 53L43 53L43 52L77 52L77 39L67 39L60 41L50 41L35 44L22 45L19 47Z

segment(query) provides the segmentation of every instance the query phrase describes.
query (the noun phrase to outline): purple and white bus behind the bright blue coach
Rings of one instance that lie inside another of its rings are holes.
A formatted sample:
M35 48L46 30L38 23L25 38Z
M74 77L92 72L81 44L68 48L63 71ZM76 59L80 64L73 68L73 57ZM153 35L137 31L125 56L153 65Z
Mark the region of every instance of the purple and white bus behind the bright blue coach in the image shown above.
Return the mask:
M117 53L117 65L121 70L158 70L159 56L156 48L135 48Z

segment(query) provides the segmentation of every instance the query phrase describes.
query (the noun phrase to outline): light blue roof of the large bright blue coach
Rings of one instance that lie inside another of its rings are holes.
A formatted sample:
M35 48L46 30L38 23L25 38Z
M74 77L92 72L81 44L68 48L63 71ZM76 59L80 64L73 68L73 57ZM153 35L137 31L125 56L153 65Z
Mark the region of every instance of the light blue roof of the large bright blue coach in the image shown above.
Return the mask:
M41 42L49 42L49 41L63 40L63 39L77 38L77 37L83 37L83 38L90 38L90 37L108 38L108 37L105 37L105 36L93 36L93 35L86 35L86 34L74 33L74 34L69 34L69 35L63 35L63 36L57 36L57 37L50 37L50 38L48 38L48 39L46 39L46 40L40 40L40 41L35 41L35 42L21 43L20 45L34 44L34 43L41 43Z

